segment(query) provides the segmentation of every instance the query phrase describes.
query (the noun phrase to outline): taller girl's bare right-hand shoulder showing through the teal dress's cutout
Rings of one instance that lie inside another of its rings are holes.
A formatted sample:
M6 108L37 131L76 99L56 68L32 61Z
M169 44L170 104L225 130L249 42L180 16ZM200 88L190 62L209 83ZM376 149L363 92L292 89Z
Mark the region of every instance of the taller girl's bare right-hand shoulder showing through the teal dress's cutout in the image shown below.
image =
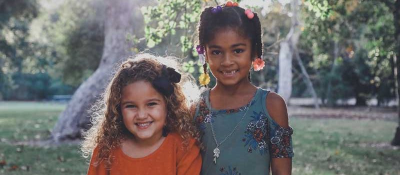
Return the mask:
M265 98L265 107L269 116L282 127L289 127L286 102L275 92L269 92Z

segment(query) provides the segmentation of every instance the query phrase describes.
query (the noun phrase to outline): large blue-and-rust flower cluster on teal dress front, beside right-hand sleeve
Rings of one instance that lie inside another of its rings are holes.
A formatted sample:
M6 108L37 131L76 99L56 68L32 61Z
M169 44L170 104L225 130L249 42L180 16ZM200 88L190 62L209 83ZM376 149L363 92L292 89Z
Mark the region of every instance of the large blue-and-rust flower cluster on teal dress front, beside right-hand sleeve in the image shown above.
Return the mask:
M252 150L259 149L259 153L262 155L267 151L268 146L265 141L267 134L267 118L264 113L257 113L254 111L253 115L250 117L252 117L252 119L247 124L242 141L245 142L244 146L248 146L248 153L251 153Z

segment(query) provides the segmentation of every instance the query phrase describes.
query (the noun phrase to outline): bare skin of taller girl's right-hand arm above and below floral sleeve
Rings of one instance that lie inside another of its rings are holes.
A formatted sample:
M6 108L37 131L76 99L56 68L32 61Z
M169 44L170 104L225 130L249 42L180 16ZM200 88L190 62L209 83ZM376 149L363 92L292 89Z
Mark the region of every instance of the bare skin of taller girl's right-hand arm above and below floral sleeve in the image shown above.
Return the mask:
M284 99L274 93L269 92L266 99L266 108L271 118L281 127L289 128L287 108ZM273 175L291 174L291 158L272 158L271 171Z

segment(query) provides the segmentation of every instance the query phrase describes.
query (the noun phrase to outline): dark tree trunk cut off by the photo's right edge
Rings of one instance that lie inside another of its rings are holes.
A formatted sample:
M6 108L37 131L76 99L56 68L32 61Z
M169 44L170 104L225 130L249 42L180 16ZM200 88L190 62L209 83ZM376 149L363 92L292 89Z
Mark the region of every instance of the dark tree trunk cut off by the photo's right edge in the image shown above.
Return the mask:
M394 134L394 138L391 141L392 145L400 145L400 0L396 0L394 2L393 9L393 22L394 22L394 38L396 43L395 49L395 62L396 62L396 85L397 85L397 114L398 114L398 126L396 129L396 133Z

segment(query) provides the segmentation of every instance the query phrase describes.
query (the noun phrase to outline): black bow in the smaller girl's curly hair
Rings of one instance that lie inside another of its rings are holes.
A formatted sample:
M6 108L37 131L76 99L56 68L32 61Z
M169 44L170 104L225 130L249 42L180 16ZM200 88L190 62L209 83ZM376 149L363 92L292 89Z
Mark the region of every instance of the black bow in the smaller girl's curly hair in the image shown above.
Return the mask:
M153 80L152 84L159 92L169 96L175 90L175 87L172 85L172 83L179 82L180 76L180 73L175 71L174 68L162 65L161 74Z

